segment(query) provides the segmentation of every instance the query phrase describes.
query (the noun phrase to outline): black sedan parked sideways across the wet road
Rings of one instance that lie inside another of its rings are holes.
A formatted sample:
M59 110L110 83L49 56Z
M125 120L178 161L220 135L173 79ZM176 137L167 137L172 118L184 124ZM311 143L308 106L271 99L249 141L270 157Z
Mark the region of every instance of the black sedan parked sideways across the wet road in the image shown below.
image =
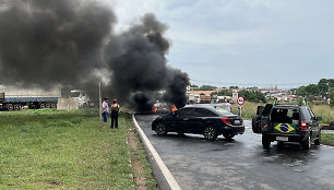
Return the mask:
M194 133L215 140L220 134L226 139L242 134L244 126L240 116L220 107L193 105L156 118L152 122L152 130L159 135L168 132Z

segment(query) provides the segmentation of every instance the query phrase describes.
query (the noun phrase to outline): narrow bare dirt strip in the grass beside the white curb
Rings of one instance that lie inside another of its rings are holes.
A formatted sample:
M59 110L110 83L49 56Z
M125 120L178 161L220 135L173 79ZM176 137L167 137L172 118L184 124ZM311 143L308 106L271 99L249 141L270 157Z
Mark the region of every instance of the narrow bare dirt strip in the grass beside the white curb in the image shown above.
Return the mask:
M134 130L129 130L128 141L129 141L129 146L131 150L131 159L132 159L131 165L134 171L134 182L136 183L139 190L147 190L146 178L144 176L144 165L138 157L139 143L135 140L135 138L136 138L136 134Z

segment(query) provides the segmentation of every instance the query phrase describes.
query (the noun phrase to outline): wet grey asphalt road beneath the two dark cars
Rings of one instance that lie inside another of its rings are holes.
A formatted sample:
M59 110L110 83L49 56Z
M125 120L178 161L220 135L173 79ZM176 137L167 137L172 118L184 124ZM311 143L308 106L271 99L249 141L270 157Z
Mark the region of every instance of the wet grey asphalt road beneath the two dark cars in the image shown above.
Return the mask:
M261 135L249 127L232 141L202 135L158 136L151 130L156 116L138 115L136 121L183 190L192 189L334 189L334 147L302 150L272 143L263 150Z

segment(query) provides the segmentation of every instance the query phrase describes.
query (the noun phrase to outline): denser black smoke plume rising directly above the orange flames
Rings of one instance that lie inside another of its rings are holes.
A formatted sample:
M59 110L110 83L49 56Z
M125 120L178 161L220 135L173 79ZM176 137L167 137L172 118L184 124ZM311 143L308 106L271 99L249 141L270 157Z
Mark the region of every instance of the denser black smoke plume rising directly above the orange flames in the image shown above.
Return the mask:
M139 109L147 109L152 100L164 93L164 99L177 107L186 105L186 73L167 66L169 41L163 37L167 26L153 14L146 14L142 24L128 32L114 35L106 50L106 61L112 71L110 93L119 98L142 103ZM134 98L131 98L134 97Z

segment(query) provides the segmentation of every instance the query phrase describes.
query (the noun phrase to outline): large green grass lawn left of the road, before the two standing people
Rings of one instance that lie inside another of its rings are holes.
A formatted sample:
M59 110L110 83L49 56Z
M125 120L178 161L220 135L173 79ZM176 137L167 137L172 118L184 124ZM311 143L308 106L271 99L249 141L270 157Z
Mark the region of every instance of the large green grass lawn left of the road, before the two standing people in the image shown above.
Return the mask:
M0 189L135 189L133 127L124 115L119 127L103 129L96 110L0 112Z

